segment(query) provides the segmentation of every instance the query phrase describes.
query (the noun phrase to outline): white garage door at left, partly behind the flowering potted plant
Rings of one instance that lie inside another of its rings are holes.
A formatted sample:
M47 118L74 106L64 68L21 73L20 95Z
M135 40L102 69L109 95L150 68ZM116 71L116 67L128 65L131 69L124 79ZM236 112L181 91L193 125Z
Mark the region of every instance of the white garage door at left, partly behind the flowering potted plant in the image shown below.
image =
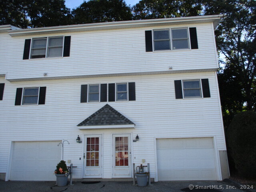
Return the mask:
M54 181L61 141L14 142L10 180Z

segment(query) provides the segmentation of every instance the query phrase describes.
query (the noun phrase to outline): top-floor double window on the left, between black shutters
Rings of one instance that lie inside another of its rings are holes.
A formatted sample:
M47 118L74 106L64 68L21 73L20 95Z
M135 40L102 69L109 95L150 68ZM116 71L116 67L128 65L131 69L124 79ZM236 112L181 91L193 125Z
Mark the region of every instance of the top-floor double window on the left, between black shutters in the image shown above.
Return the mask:
M46 49L47 47L47 49ZM30 58L62 57L63 36L32 39Z

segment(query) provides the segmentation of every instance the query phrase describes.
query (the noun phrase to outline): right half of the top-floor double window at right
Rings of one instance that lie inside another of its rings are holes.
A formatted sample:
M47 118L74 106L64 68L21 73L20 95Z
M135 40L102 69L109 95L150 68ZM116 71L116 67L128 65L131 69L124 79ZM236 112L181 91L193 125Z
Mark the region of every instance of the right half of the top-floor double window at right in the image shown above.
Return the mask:
M172 49L189 49L188 29L172 29Z

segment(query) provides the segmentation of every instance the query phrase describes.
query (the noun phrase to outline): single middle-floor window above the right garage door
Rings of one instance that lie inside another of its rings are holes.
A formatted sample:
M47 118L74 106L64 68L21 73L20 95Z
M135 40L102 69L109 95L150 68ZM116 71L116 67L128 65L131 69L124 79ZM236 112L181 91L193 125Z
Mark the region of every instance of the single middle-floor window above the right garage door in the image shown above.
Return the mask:
M200 98L201 84L200 80L183 80L184 98Z

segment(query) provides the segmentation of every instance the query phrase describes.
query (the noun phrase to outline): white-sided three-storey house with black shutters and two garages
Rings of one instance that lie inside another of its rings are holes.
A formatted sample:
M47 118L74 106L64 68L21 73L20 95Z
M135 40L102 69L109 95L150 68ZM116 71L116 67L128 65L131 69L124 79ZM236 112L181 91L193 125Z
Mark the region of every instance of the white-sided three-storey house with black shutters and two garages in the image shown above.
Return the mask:
M77 180L131 180L133 163L155 181L228 178L221 17L0 26L0 178L56 180L62 158Z

